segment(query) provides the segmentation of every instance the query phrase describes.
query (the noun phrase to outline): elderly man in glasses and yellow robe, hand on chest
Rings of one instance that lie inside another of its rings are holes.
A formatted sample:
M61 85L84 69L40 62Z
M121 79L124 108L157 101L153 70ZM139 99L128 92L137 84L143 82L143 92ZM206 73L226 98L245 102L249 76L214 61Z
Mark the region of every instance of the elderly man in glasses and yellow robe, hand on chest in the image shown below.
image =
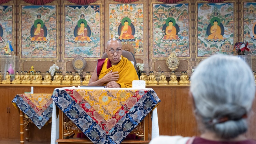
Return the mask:
M122 43L112 38L108 40L106 46L108 58L98 59L88 86L132 87L132 80L139 80L139 77L131 61L122 56Z

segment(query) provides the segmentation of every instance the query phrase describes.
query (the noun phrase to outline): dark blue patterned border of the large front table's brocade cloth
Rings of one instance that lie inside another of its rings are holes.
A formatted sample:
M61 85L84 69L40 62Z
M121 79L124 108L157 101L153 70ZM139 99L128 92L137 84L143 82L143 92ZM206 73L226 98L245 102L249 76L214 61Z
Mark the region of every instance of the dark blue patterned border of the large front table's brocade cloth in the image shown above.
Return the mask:
M65 113L68 118L95 144L121 143L160 102L154 90L143 90L146 92L140 97L138 102L135 103L108 132L106 132L102 129L100 124L93 119L93 116L91 115L92 113L87 113L76 103L76 100L70 96L70 93L73 93L70 91L72 91L72 89L55 89L52 99L61 111ZM138 94L140 90L133 91L133 94L136 93L136 91Z

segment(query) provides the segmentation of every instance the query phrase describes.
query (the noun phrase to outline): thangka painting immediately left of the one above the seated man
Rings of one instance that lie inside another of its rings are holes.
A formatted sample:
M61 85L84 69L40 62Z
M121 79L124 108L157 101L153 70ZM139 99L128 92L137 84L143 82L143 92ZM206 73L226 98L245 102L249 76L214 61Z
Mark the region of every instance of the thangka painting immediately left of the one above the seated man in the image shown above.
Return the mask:
M100 57L100 5L65 6L65 58Z

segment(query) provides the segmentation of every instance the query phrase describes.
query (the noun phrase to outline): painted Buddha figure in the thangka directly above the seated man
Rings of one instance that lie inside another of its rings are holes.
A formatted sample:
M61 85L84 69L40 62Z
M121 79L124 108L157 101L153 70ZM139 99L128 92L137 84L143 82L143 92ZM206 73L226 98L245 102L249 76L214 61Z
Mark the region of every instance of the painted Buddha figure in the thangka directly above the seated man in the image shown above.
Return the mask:
M119 39L121 41L135 41L135 38L133 36L135 33L135 29L133 24L131 23L131 19L125 17L122 19L121 24L118 27Z

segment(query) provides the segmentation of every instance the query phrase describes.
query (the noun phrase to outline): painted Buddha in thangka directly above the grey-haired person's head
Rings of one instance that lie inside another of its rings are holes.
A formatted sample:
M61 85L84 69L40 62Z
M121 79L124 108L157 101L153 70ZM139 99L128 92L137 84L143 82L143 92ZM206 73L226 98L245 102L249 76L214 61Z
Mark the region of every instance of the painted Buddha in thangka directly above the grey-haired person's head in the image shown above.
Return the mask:
M213 17L210 24L207 27L207 35L205 38L207 41L225 41L226 38L224 35L224 26L221 23L221 20L218 17Z

